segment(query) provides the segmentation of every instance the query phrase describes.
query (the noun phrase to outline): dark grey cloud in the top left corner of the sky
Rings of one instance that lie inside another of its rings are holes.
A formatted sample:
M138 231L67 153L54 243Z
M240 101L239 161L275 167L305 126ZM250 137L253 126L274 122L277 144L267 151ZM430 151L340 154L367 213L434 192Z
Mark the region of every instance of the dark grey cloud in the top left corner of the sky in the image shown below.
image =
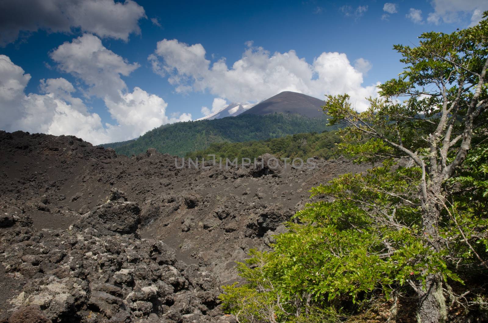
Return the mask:
M71 32L73 28L102 38L127 41L140 34L144 8L132 0L3 0L0 1L0 46L19 38L21 31Z

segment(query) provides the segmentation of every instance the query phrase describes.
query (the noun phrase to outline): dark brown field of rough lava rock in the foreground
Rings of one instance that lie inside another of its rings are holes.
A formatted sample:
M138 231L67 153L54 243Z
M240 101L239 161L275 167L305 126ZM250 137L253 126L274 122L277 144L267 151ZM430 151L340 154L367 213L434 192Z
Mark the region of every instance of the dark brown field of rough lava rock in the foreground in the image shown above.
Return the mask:
M10 323L233 322L218 295L238 280L235 261L268 248L312 186L366 169L343 159L178 168L154 149L128 158L24 132L0 132L0 145L0 320Z

